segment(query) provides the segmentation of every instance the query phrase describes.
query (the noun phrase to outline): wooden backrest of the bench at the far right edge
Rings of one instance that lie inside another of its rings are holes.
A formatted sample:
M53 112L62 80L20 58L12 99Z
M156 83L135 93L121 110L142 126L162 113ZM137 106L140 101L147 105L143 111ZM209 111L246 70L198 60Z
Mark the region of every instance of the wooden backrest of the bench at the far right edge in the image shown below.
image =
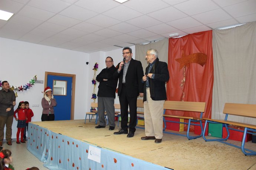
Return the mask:
M256 105L240 104L240 103L225 103L223 113L256 118Z

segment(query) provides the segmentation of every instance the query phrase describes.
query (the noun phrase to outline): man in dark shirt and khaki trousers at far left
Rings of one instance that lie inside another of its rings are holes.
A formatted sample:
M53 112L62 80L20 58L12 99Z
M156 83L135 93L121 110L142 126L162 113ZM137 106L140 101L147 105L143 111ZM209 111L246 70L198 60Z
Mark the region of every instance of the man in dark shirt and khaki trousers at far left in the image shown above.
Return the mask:
M0 146L3 145L4 126L6 126L7 145L12 145L13 108L16 105L16 96L13 91L10 91L7 81L2 82L2 88L0 90Z

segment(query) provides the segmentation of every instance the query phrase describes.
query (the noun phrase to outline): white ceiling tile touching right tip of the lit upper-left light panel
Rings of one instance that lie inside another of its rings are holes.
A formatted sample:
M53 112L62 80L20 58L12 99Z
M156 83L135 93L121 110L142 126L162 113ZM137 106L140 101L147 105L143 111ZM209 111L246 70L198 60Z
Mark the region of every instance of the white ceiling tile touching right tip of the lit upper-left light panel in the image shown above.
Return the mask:
M20 10L18 14L22 16L30 17L30 18L35 18L37 20L42 20L42 21L46 21L50 17L55 15L55 13L41 10L39 8L31 7L28 5L22 8L22 10Z

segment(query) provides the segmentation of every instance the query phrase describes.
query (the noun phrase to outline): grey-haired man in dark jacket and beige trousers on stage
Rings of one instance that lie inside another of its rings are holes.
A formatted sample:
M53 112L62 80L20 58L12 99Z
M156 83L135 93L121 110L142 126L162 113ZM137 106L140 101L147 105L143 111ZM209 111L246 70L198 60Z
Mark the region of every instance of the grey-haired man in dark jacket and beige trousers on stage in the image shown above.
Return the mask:
M155 140L161 143L163 137L164 101L167 99L165 82L170 78L166 62L159 61L157 50L147 51L146 59L149 62L144 81L144 119L145 134L141 140Z

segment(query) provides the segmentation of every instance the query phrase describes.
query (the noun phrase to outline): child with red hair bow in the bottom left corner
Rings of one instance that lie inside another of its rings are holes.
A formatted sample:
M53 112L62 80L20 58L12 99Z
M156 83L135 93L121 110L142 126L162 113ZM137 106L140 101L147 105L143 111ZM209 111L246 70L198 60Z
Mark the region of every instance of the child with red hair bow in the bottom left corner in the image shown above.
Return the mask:
M0 169L1 170L14 170L13 166L10 164L13 162L12 152L8 149L3 149L0 152Z

